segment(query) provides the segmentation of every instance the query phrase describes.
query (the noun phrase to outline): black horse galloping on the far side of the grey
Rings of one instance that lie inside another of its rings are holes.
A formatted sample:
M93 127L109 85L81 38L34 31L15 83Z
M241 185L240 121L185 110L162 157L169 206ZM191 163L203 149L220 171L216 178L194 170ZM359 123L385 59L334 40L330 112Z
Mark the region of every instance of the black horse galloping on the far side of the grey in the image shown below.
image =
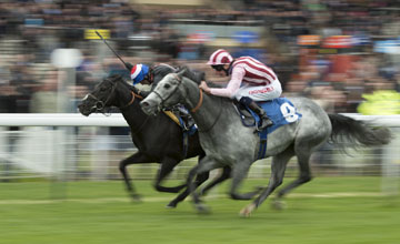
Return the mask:
M160 192L177 193L186 187L187 184L167 187L161 185L162 180L182 160L193 156L199 156L200 160L204 156L204 151L199 143L198 132L188 135L188 148L186 150L187 153L184 153L181 128L164 113L160 113L157 116L149 116L143 113L139 104L142 98L138 94L138 90L117 74L104 79L78 105L79 111L87 116L93 112L104 112L104 109L110 106L120 109L130 126L132 142L139 150L119 164L127 190L134 200L139 200L139 195L131 184L127 171L128 165L160 163L154 187ZM204 182L208 176L208 173L199 174L197 179L198 184L200 185ZM188 190L183 191L167 206L176 207L188 194Z

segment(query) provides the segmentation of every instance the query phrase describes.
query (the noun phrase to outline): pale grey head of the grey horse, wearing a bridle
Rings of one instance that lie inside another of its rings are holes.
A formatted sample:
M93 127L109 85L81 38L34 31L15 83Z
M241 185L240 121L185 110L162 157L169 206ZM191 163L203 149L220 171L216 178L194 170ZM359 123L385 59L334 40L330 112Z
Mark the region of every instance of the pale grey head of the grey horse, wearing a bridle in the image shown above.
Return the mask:
M160 110L172 106L180 102L182 93L177 92L180 88L183 71L167 74L152 90L152 92L140 102L144 113L157 114Z

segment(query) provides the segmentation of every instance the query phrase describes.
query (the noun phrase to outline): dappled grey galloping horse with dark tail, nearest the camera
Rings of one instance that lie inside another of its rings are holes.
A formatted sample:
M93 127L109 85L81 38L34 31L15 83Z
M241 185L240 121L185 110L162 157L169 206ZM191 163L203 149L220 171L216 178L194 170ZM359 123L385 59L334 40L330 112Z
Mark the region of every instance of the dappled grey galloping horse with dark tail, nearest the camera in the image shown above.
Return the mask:
M307 98L292 98L291 102L302 118L269 134L266 153L266 157L272 156L269 184L240 212L243 216L249 216L282 184L287 163L292 156L298 159L300 174L278 192L277 200L311 180L310 156L327 140L330 139L332 143L338 143L341 139L350 140L353 142L352 146L382 145L390 141L390 131L386 128L373 129L341 114L327 114L321 106ZM196 82L182 77L180 72L164 77L141 102L141 106L146 113L153 114L161 108L176 103L182 103L188 109L199 108L191 114L198 125L206 156L188 176L188 185L198 211L208 210L193 191L193 177L217 167L229 165L232 169L232 199L252 199L254 193L239 193L238 190L251 164L257 161L260 139L253 133L253 128L242 125L232 101L203 93Z

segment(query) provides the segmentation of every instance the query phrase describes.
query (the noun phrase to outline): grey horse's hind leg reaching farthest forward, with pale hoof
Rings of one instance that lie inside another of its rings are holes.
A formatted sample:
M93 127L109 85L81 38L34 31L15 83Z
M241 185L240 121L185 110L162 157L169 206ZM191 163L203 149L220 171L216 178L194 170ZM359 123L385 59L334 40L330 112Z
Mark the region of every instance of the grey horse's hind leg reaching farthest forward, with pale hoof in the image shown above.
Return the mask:
M264 189L261 194L248 206L246 206L240 214L242 216L249 216L252 211L259 207L263 201L283 182L284 171L289 160L293 156L293 148L290 146L282 153L274 155L272 157L271 164L271 176L268 183L267 189Z

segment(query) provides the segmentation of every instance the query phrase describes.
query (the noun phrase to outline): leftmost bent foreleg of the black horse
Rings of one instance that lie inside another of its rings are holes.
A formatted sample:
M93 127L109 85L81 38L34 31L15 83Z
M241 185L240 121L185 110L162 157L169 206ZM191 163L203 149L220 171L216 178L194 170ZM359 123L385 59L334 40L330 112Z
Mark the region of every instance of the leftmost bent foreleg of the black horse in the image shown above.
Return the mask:
M151 161L146 155L138 152L138 153L134 153L134 154L128 156L127 159L122 160L119 163L119 170L123 176L123 181L124 181L127 191L129 192L130 196L137 201L140 200L140 196L134 191L133 184L131 183L131 179L127 171L127 166L130 164L139 164L139 163L151 163Z

